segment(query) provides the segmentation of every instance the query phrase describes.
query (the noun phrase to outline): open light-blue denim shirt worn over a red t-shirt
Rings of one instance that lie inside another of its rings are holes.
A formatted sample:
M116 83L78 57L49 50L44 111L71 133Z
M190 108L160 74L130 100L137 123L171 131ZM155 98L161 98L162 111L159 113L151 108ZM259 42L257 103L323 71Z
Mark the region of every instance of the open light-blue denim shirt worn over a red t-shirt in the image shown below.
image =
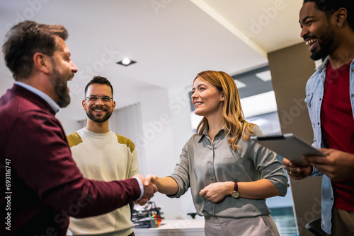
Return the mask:
M311 119L312 129L314 131L314 143L312 146L315 148L326 148L322 142L321 134L321 104L324 97L324 81L326 80L326 67L329 64L329 58L324 60L324 63L316 68L316 72L309 78L306 85L306 98L307 108L309 110L309 117ZM352 113L354 118L354 60L350 64L350 76L349 76L349 88L350 88L350 102L352 106ZM322 175L321 172L316 170L312 171L312 176ZM333 189L331 185L331 179L326 175L322 177L322 196L321 196L321 208L322 208L322 221L321 226L327 233L331 234L331 218L333 207Z

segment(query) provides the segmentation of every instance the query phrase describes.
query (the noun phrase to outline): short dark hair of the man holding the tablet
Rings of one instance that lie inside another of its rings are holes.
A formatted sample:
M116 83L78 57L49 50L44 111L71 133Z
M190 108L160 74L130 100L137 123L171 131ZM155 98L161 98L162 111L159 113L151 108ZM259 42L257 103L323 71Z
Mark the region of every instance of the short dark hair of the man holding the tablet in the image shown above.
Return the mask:
M347 19L350 28L354 30L354 3L353 0L304 0L306 2L314 2L319 11L323 11L327 18L343 7L347 9Z

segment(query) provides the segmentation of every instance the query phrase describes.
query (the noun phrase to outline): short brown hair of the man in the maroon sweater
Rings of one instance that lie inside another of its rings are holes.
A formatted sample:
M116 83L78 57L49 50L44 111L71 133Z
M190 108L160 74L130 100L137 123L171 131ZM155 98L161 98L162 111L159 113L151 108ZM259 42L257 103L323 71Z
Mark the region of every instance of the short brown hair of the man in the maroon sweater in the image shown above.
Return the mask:
M39 24L30 20L14 25L6 33L2 52L16 81L30 76L35 53L53 55L57 49L56 36L67 40L69 34L62 25Z

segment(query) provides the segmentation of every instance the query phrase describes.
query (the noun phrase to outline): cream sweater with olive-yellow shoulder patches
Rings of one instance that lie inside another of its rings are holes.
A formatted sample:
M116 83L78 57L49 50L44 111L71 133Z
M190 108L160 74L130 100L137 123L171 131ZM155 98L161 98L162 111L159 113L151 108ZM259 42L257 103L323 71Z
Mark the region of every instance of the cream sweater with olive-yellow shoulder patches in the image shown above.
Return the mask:
M135 145L130 139L109 131L96 134L86 128L67 136L72 157L82 175L89 179L113 181L139 173ZM101 216L70 218L69 229L74 235L127 236L133 230L130 206L126 205Z

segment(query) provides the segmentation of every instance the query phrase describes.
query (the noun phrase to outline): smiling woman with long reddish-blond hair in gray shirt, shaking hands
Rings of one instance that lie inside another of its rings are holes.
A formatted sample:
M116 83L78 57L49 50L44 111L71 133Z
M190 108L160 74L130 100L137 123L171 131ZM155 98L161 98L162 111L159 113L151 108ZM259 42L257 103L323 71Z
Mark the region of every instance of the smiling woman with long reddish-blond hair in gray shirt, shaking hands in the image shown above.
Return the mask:
M158 191L180 197L190 188L205 235L279 235L265 199L285 196L287 177L276 154L250 140L263 134L244 119L234 80L198 73L192 102L203 119L172 175L154 176Z

